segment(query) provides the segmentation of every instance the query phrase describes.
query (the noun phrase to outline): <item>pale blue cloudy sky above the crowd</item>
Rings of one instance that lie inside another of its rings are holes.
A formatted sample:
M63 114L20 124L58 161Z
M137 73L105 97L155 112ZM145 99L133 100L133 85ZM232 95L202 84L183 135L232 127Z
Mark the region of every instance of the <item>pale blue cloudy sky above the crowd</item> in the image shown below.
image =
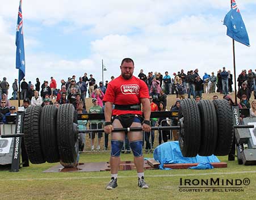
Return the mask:
M233 71L232 40L221 22L229 11L229 0L216 1L82 1L23 0L26 79L35 83L54 76L58 83L68 76L94 74L104 80L120 74L124 57L140 69L199 69L199 74L216 72L223 66ZM236 42L237 74L256 69L256 2L237 0L251 47ZM0 79L9 83L15 69L15 27L19 0L0 8Z

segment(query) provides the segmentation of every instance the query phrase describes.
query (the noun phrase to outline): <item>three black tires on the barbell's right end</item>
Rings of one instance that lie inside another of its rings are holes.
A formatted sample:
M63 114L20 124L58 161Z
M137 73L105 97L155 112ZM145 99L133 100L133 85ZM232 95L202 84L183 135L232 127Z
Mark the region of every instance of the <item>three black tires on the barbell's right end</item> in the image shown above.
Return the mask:
M226 100L184 99L179 109L179 146L184 157L228 155L233 142L232 109Z

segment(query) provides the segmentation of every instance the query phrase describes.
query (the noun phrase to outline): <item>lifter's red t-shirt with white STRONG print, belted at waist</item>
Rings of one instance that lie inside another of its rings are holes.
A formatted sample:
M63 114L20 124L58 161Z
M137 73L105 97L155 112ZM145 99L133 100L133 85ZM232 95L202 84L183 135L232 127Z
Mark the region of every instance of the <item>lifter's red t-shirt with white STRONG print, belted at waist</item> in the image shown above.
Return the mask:
M120 75L108 83L103 101L116 105L132 105L140 104L141 98L149 98L146 83L135 76L127 80ZM112 115L117 114L142 114L142 112L141 110L112 110Z

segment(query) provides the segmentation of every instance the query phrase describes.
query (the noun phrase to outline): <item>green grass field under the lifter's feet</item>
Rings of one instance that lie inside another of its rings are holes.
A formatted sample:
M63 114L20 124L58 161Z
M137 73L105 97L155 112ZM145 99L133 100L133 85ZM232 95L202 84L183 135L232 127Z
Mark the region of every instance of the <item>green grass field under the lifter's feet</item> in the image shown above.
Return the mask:
M145 154L152 158L152 154ZM81 162L107 161L108 153L82 154ZM121 155L122 160L132 160L132 155ZM54 164L31 164L17 173L0 171L0 199L256 199L256 167L228 163L228 168L207 170L175 169L170 171L145 171L149 189L137 186L136 171L120 171L118 187L106 190L110 172L41 173ZM251 173L250 173L251 172ZM180 178L250 178L244 192L179 192Z

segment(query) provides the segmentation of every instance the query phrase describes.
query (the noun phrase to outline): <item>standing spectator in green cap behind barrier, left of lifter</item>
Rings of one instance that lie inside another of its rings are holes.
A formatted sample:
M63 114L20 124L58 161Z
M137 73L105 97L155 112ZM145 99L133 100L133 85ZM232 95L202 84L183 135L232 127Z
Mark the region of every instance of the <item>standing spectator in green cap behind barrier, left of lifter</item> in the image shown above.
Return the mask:
M93 98L92 99L93 102L93 107L91 107L89 109L89 113L102 113L102 107L100 107L100 105L98 105L98 100ZM96 120L98 121L98 120ZM98 124L95 123L95 120L90 120L90 129L101 129L102 128L102 124ZM90 138L91 138L91 151L94 151L94 139L95 139L95 134L96 133L90 133ZM98 133L98 144L96 147L96 150L100 150L100 140L102 138L102 132Z

